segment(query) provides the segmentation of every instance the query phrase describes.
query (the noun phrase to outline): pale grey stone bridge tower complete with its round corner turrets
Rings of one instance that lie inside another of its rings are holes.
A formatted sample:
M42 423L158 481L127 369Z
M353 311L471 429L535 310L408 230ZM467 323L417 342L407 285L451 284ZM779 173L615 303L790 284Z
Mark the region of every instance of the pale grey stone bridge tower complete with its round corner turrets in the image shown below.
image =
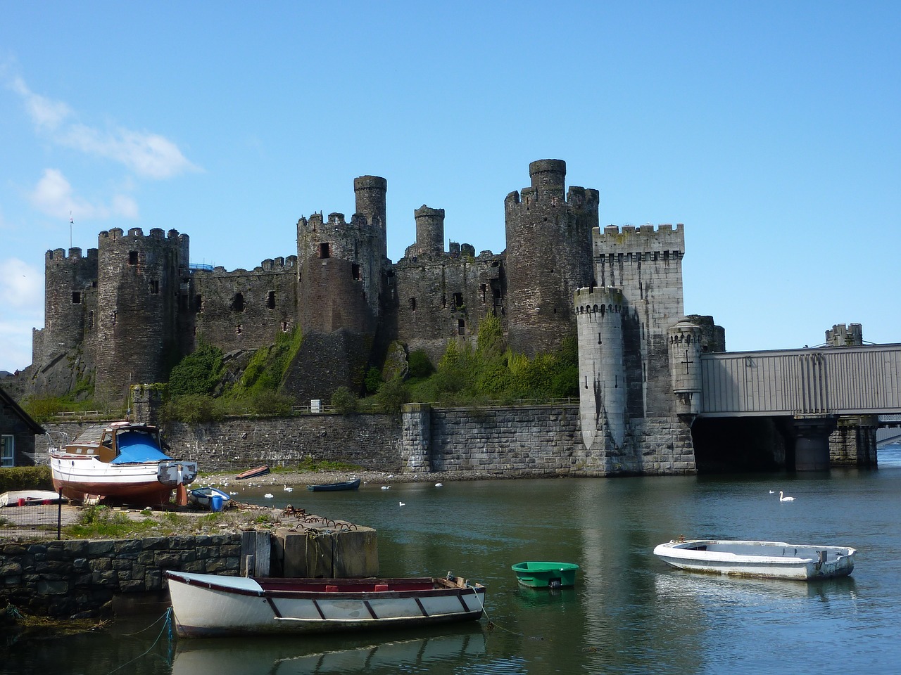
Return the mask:
M595 230L598 287L573 298L589 472L696 471L704 329L682 317L684 249L681 225Z

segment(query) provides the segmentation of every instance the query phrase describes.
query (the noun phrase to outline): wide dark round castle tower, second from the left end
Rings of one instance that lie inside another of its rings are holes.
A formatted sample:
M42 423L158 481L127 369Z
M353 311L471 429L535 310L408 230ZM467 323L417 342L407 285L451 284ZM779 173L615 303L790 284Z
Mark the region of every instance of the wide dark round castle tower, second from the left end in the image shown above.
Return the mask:
M119 400L130 384L165 381L167 356L178 356L187 238L114 228L100 233L98 251L95 393Z

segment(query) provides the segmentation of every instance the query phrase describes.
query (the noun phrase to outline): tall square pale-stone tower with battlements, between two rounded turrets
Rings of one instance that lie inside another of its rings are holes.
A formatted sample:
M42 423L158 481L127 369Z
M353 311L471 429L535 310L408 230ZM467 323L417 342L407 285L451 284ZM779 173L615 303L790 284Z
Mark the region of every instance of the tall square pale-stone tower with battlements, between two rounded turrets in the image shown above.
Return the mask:
M673 400L669 382L667 327L682 318L683 226L609 225L594 238L598 285L623 292L629 313L623 318L626 368L632 415L669 417Z

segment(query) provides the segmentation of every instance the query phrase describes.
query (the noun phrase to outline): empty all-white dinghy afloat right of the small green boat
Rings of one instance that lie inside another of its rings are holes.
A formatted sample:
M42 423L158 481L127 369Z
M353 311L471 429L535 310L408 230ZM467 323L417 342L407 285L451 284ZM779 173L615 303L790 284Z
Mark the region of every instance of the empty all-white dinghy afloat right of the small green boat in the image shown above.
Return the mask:
M847 546L733 540L669 542L654 549L661 560L680 570L798 581L847 576L854 569L856 553Z

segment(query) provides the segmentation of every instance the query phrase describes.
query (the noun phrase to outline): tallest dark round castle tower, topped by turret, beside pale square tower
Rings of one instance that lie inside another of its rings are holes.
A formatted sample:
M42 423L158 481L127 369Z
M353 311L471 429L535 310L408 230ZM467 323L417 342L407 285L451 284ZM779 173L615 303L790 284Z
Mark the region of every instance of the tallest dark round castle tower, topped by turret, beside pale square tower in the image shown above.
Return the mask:
M596 190L564 193L566 162L529 165L531 187L505 199L508 341L529 356L560 346L574 326L572 298L594 283L591 232Z

